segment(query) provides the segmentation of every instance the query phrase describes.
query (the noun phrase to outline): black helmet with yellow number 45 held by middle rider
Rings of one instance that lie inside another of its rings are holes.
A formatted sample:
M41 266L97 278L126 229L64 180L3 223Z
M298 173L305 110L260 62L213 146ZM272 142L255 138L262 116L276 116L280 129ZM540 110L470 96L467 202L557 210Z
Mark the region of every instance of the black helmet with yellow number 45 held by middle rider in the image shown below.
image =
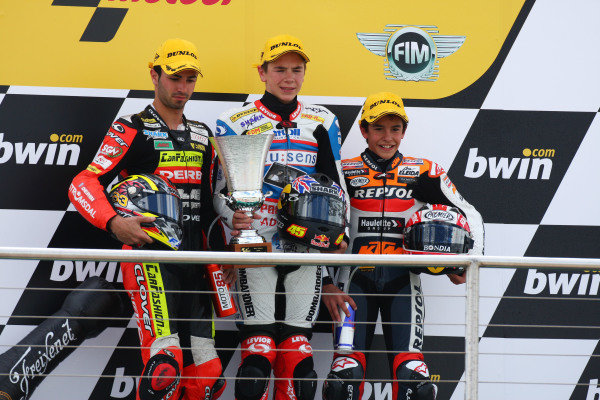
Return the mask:
M336 250L346 229L344 190L325 174L302 175L287 184L277 202L282 239L318 250Z

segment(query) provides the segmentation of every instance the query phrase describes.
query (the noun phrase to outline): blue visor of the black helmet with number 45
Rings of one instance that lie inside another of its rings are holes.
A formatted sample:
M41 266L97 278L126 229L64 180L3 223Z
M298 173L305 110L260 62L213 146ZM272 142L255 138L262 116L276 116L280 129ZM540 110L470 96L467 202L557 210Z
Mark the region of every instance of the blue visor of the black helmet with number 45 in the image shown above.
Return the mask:
M297 218L345 225L344 202L339 198L312 193L310 196L290 199L286 204L288 214Z

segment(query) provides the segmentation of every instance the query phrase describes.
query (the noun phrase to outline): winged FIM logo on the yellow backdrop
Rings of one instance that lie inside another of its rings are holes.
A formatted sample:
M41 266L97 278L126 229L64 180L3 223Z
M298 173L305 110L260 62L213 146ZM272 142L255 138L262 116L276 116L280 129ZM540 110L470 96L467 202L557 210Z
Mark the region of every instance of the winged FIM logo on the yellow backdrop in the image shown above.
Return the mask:
M396 81L437 81L439 59L453 54L466 39L466 36L437 35L438 27L434 25L388 24L384 31L389 33L356 36L370 52L386 58L384 75Z

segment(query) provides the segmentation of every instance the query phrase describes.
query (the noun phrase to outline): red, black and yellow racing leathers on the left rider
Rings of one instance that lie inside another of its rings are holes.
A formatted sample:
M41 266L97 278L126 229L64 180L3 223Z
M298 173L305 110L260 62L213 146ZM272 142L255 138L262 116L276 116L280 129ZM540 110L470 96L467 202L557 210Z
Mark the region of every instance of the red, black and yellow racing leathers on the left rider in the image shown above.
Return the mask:
M177 129L169 129L150 105L138 114L120 117L87 169L73 179L69 199L85 219L107 230L108 222L117 215L108 200L107 185L118 175L162 175L182 199L180 250L202 250L207 247L209 225L216 216L212 207L215 152L210 135L206 125L185 117ZM216 224L213 231L210 242L217 247L224 242L222 226ZM210 298L178 293L208 290L203 269L190 264L139 262L121 263L121 271L135 311L145 365L137 398L179 399L183 386L184 398L205 398L207 391L217 398L224 381L218 379L222 367L212 337ZM181 350L190 347L191 352ZM161 374L177 378L157 378Z

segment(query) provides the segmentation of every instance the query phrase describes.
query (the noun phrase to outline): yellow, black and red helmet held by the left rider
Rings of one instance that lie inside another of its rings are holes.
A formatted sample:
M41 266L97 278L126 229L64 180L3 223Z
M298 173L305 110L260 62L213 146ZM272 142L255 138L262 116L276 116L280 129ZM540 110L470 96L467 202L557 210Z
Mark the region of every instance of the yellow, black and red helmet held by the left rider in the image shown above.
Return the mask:
M156 218L142 224L142 230L154 239L154 245L179 249L183 238L181 197L167 178L155 174L131 175L115 184L109 197L122 217Z

